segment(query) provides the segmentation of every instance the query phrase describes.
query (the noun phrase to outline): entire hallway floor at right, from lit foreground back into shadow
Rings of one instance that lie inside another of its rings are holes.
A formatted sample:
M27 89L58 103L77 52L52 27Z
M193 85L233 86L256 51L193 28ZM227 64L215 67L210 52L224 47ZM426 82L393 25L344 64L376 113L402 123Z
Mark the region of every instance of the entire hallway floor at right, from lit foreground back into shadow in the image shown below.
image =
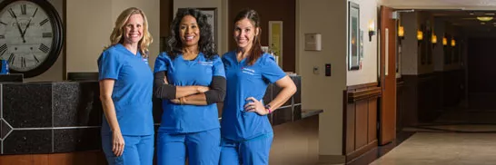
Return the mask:
M371 165L494 164L496 111L455 109L432 123L402 131L415 132Z

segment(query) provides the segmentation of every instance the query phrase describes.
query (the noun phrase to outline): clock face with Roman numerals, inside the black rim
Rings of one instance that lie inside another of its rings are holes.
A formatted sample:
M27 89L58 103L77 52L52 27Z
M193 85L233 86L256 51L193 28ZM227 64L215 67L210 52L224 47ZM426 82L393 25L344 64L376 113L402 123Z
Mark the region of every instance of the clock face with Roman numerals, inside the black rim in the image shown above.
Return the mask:
M52 24L35 3L17 1L0 13L0 58L25 72L45 62L52 46Z

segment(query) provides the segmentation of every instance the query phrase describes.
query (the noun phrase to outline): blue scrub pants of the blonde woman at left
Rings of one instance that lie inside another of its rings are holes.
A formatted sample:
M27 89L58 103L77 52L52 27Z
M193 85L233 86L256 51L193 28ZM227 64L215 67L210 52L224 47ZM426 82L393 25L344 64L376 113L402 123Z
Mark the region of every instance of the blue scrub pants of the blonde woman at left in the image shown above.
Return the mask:
M102 148L109 165L151 165L154 160L154 135L124 137L124 152L116 157L112 151L112 134L102 135Z

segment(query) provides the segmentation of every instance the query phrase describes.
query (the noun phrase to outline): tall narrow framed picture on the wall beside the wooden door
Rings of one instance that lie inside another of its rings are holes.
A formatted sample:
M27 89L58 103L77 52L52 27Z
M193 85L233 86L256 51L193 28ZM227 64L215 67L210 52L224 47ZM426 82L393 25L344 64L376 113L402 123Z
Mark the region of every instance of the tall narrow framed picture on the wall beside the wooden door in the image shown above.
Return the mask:
M360 5L349 2L348 5L348 70L360 69Z

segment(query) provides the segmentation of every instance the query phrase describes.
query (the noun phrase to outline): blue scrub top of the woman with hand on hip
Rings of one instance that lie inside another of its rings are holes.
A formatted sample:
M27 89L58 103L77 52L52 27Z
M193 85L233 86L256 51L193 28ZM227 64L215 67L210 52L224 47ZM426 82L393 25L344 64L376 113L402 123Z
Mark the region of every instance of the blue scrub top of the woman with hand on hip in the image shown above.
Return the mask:
M223 54L223 64L227 80L226 96L223 104L221 132L225 139L232 141L250 140L273 129L267 116L256 112L244 112L249 97L261 101L269 83L281 80L286 73L275 63L273 55L263 55L253 65L243 59L238 63L236 52Z

